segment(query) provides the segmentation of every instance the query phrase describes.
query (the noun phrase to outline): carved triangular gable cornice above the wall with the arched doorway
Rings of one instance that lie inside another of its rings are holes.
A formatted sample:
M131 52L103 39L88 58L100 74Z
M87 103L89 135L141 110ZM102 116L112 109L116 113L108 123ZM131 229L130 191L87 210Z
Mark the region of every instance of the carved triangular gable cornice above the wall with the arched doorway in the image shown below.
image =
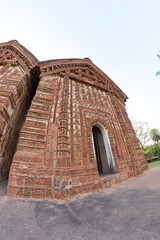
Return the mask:
M71 79L97 86L116 95L122 102L128 97L126 94L89 58L59 59L40 62L41 76L60 73Z

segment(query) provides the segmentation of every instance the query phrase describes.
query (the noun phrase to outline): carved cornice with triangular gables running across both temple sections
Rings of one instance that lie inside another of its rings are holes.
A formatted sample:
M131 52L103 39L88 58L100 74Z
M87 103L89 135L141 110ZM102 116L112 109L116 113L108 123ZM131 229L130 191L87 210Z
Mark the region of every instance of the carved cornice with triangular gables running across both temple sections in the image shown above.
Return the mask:
M59 73L73 80L83 82L110 92L123 103L128 99L125 93L89 58L57 59L39 62L25 47L12 40L0 43L0 63L20 64L26 73L30 73L35 66L40 67L41 77Z

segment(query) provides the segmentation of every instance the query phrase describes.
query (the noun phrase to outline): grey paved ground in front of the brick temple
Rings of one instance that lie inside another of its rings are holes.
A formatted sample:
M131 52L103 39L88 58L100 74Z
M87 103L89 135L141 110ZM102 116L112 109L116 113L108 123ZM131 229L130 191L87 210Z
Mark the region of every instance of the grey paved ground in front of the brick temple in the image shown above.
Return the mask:
M0 240L160 239L160 165L69 203L8 198L6 185L0 184Z

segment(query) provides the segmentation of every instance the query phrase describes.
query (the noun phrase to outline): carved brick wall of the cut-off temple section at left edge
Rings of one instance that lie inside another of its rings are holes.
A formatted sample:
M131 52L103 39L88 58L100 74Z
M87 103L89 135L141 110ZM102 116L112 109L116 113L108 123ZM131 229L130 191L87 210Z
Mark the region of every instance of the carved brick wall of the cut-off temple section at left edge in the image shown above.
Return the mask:
M8 178L33 92L29 72L17 54L23 56L11 44L0 44L0 181Z

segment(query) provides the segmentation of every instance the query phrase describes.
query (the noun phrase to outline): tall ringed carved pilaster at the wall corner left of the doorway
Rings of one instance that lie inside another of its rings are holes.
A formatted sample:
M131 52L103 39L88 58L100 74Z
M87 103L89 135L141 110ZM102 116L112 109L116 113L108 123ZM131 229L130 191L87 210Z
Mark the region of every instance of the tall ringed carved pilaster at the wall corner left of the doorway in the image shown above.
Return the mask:
M57 156L54 174L55 198L66 198L72 187L70 173L70 96L71 83L69 77L61 79L61 98L59 106ZM58 191L56 191L58 190ZM63 190L63 191L59 191ZM59 194L61 196L59 196Z

